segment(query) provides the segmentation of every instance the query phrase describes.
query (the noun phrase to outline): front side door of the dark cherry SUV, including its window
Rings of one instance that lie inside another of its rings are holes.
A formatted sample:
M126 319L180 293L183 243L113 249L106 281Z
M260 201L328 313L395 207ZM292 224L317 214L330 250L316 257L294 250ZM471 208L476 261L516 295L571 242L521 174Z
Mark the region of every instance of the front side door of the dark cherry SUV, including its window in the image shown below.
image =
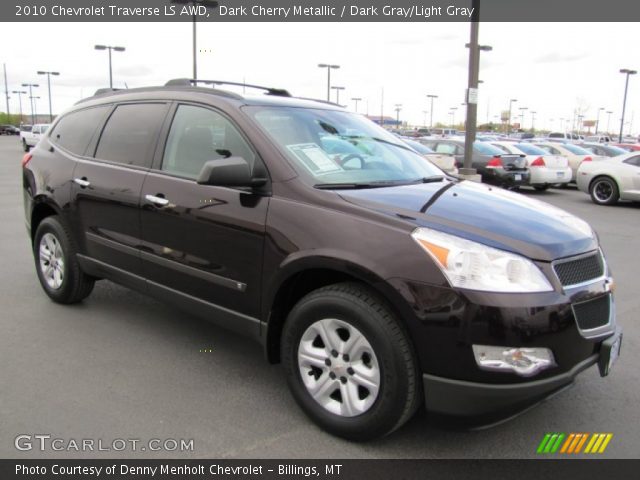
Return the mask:
M196 183L206 161L230 156L263 168L223 112L176 107L141 194L144 275L150 288L167 295L179 292L184 300L222 307L222 313L257 318L269 197Z

